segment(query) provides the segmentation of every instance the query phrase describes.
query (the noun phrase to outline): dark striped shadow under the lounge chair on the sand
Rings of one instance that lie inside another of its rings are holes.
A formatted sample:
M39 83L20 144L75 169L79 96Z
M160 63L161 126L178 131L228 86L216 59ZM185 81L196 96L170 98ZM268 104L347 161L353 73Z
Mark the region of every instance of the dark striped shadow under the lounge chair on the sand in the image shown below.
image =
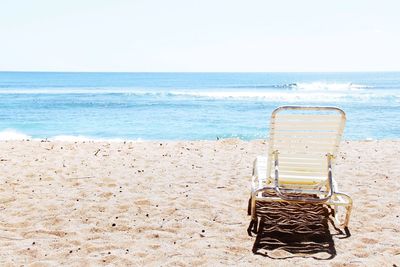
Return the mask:
M325 205L257 202L259 226L253 253L272 259L333 259L332 236L345 234L329 219L331 213ZM329 224L336 231L333 235Z

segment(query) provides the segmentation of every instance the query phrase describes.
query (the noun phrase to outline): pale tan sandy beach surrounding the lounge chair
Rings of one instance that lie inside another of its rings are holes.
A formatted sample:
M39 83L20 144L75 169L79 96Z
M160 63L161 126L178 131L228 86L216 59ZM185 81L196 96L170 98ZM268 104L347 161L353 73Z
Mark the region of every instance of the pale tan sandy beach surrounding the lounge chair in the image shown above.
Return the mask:
M351 236L323 209L304 211L325 227L308 251L247 234L252 162L266 146L2 141L0 265L400 266L400 141L342 143L334 176L354 199Z

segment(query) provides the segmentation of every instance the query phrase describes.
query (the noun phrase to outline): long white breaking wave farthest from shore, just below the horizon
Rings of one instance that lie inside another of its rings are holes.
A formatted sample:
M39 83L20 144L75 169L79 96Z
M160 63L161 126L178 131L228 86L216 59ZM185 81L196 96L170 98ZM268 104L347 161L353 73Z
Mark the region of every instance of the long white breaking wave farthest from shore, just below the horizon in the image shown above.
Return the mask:
M257 87L258 86L258 87ZM288 83L277 85L257 85L256 87L234 86L212 89L140 89L140 88L41 88L41 89L0 89L0 94L87 94L89 96L123 96L151 98L158 100L253 100L269 102L368 102L371 100L400 102L399 90L376 89L354 83ZM270 88L270 89L260 89ZM105 100L107 101L107 100Z

